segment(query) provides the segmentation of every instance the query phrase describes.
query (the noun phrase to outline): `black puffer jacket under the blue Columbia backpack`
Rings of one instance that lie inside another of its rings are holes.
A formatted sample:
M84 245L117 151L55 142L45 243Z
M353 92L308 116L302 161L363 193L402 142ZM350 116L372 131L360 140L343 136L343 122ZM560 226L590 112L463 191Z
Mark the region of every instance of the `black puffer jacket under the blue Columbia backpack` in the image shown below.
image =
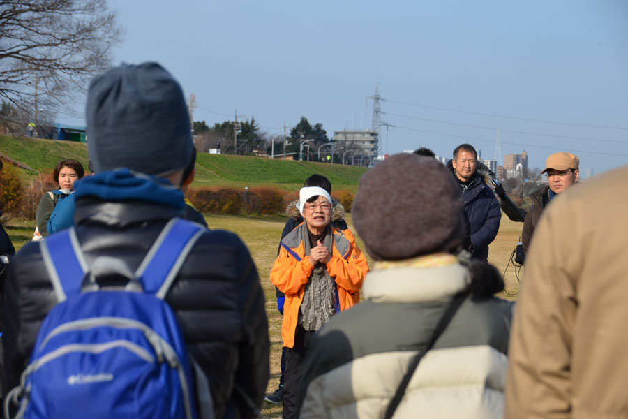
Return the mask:
M87 263L114 255L135 270L180 212L155 203L79 198L75 223ZM57 304L39 243L25 245L12 262L4 311L5 388L19 383L41 322ZM209 378L216 418L256 417L269 378L269 337L264 293L244 243L233 233L208 230L165 300Z

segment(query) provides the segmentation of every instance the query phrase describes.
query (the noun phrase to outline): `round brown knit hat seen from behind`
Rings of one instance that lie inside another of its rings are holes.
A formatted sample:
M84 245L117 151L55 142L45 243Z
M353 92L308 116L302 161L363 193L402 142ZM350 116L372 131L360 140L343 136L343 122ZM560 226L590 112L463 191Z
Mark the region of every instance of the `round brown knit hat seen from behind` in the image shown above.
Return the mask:
M396 154L362 175L351 212L375 260L454 249L463 239L463 199L431 157Z

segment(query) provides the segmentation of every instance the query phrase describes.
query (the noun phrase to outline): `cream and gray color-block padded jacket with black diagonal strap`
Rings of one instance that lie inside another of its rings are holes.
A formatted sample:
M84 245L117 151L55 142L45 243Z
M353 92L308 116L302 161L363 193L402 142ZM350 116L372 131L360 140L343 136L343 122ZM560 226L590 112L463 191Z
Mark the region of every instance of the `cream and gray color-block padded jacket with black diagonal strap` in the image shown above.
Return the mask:
M369 272L366 301L313 338L299 418L382 418L465 274L457 263ZM394 417L501 418L510 319L510 302L468 297L421 359Z

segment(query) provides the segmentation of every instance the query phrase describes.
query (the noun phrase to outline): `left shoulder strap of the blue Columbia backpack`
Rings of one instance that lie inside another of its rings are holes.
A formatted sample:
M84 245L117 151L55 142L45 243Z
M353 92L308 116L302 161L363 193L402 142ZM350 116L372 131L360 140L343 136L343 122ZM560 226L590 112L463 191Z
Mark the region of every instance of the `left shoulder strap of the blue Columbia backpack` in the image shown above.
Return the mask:
M88 268L74 228L46 237L41 242L41 255L59 302L80 293Z

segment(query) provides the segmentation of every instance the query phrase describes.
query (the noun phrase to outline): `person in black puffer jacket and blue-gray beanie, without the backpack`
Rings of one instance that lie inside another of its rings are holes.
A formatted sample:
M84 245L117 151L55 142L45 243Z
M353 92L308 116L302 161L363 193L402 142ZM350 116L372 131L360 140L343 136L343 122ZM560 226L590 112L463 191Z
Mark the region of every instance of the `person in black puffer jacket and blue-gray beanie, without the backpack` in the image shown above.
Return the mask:
M159 64L123 64L92 80L87 126L96 175L75 191L77 240L88 266L114 256L134 272L165 225L184 215L179 185L194 147L186 101ZM4 387L13 388L57 304L38 242L10 263L6 295ZM208 378L214 417L257 418L270 343L264 292L245 244L234 233L202 230L165 301Z

